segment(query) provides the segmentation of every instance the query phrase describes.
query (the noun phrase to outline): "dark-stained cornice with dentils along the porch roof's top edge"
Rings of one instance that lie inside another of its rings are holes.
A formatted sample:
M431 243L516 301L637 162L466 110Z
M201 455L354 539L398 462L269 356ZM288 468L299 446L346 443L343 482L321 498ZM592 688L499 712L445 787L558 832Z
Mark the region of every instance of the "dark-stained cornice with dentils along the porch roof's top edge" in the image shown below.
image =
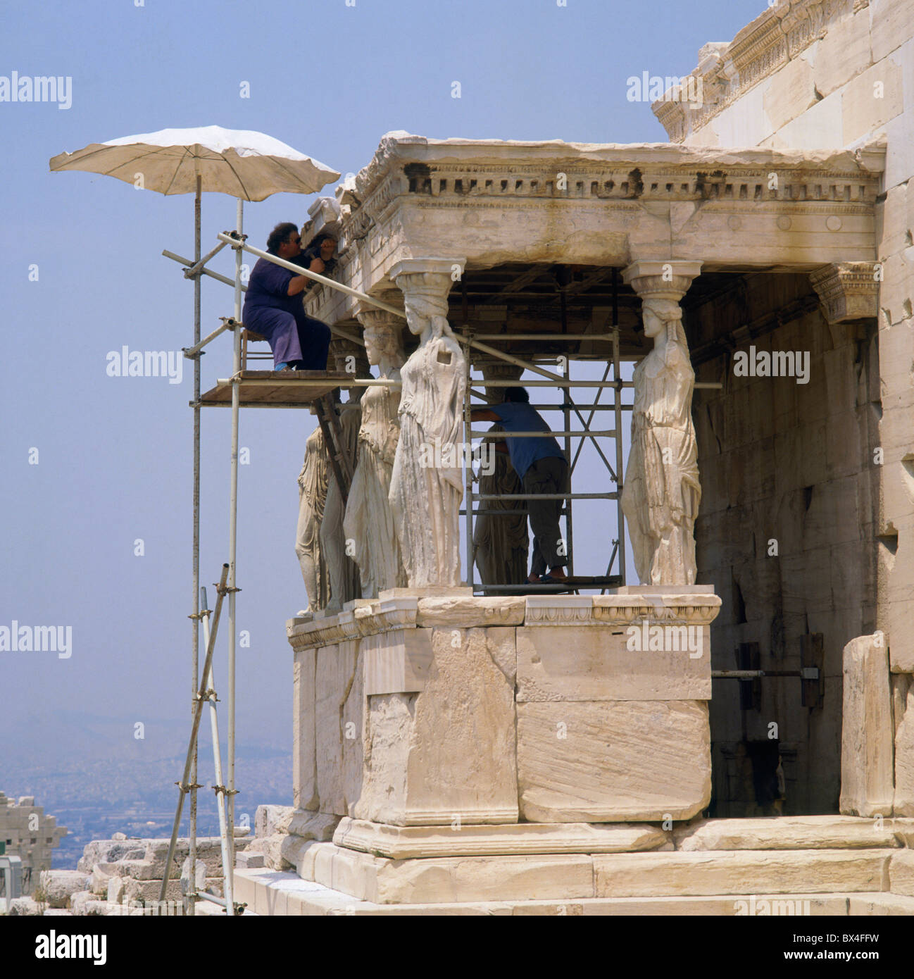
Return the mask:
M544 205L610 205L616 220L646 203L730 203L755 209L826 205L828 213L871 209L885 148L778 151L641 145L521 143L385 137L358 176L361 206L343 216L341 271L358 243L392 232L404 203L434 210L539 210ZM420 174L408 177L407 172ZM771 174L777 175L772 189ZM560 179L561 177L561 179Z

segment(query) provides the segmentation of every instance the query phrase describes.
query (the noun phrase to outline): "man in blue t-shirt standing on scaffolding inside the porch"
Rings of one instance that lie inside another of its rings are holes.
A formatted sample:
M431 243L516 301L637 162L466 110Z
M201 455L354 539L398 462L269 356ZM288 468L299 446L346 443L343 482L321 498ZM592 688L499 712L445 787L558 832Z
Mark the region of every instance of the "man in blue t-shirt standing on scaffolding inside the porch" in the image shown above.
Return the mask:
M505 400L487 408L474 408L471 421L498 422L506 433L549 432L542 416L530 407L530 396L525 388L506 388ZM507 443L507 449L504 448ZM525 493L569 492L569 464L565 452L551 436L541 439L512 439L506 435L504 443L495 443L496 450L507 451L511 465L524 485ZM533 532L533 561L529 583L564 582L562 570L567 564L567 548L559 531L561 499L528 499L526 509ZM546 568L549 574L545 574Z

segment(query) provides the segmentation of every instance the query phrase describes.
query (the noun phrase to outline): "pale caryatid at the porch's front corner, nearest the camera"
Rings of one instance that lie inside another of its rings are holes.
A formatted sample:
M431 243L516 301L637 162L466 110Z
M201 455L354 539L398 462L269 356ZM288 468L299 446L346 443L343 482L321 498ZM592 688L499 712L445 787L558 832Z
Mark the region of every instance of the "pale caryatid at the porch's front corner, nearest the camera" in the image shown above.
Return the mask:
M453 269L463 260L407 258L390 277L403 291L419 347L400 376L400 440L390 507L410 587L460 584L463 403L467 363L447 322Z

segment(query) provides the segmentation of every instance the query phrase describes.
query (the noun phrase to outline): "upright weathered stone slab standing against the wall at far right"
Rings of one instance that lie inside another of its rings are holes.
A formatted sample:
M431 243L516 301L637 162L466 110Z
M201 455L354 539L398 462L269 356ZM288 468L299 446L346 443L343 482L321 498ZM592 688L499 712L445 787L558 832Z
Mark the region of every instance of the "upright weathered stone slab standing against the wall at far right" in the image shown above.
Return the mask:
M892 735L889 653L884 638L861 635L845 645L841 738L841 811L891 815Z

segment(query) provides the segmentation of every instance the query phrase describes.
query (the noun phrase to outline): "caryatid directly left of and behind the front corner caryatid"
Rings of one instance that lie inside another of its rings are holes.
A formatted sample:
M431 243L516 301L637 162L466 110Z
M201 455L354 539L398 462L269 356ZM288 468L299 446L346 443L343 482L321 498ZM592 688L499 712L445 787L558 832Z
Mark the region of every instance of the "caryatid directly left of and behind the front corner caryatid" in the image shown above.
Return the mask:
M403 319L382 309L359 312L365 327L368 362L378 366L379 380L399 381L406 360ZM396 388L372 387L362 396L358 457L346 504L343 533L359 568L363 598L385 588L405 587L406 571L393 526L388 494L400 438Z

